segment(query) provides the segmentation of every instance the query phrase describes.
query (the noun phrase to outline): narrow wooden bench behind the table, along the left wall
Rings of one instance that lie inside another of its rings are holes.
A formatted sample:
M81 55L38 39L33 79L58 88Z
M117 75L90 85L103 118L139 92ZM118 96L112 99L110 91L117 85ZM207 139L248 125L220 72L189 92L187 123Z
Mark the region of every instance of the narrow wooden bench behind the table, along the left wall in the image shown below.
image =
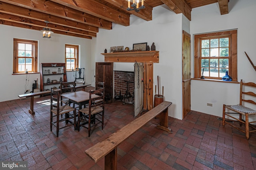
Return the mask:
M84 84L84 85L80 85L80 86L76 86L76 89L82 89L85 91L86 87L90 86L90 84ZM18 95L19 98L30 98L30 109L28 110L28 112L32 115L35 114L34 111L34 96L41 96L41 95L45 95L45 94L50 94L51 90L47 90L47 91L42 91L42 92L34 92L34 93L27 93L27 94L20 94Z

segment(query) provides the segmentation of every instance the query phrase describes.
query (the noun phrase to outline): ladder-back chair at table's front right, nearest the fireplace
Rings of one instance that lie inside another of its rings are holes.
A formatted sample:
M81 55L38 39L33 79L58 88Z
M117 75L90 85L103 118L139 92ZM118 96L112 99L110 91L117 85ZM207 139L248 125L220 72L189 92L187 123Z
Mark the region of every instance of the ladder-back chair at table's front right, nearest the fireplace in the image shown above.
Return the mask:
M88 137L90 137L91 127L101 123L102 130L104 126L104 89L90 90L89 106L78 111L78 131L80 126L88 129ZM92 98L96 94L98 97Z

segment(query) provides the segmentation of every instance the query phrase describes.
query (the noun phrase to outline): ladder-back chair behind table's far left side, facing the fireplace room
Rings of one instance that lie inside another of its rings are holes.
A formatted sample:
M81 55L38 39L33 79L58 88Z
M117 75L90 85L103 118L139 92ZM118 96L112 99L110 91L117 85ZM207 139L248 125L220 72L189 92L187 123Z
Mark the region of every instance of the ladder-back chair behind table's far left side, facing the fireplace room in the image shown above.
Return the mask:
M60 82L60 94L64 94L64 93L70 93L70 92L75 92L76 91L76 82ZM69 105L70 106L70 101L67 98L63 98L62 96L60 96L60 100L61 100L61 106L64 103L65 105Z

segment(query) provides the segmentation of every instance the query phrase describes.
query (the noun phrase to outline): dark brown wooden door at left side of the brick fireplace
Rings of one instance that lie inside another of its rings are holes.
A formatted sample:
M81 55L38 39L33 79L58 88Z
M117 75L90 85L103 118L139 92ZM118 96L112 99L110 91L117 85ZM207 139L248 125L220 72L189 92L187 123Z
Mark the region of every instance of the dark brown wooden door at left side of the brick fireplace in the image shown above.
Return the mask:
M105 96L113 98L113 63L96 63L95 81L105 82Z

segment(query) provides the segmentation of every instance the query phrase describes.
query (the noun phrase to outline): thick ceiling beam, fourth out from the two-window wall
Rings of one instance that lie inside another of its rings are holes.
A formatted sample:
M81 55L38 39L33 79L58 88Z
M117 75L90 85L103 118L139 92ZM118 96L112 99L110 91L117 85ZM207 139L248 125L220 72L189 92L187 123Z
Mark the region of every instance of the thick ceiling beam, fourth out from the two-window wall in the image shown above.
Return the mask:
M47 14L66 18L81 23L86 23L95 27L104 29L112 29L112 22L86 14L82 11L74 10L62 4L57 4L49 0L1 0L2 2L14 4L16 6L25 7L38 12L45 12ZM87 1L87 0L86 0ZM14 10L12 10L15 12Z

